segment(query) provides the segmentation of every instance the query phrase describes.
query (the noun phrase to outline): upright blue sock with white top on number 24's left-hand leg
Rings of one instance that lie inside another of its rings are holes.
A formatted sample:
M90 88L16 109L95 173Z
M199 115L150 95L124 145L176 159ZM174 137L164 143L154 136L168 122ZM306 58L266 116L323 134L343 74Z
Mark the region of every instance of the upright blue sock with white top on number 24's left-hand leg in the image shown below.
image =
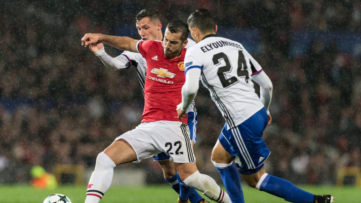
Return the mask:
M216 166L219 174L221 175L222 182L226 187L231 201L244 203L241 178L239 177L238 170L233 162L231 164L218 164L213 162L213 164Z

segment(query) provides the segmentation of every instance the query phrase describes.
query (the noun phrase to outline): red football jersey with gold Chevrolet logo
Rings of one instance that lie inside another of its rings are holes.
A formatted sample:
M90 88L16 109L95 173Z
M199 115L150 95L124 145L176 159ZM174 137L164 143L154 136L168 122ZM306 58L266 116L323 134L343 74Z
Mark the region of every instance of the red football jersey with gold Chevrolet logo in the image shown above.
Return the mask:
M163 42L158 40L139 41L137 49L147 61L147 75L144 85L144 110L142 122L179 121L177 105L182 102L184 55L168 60L163 52ZM182 118L187 124L187 118Z

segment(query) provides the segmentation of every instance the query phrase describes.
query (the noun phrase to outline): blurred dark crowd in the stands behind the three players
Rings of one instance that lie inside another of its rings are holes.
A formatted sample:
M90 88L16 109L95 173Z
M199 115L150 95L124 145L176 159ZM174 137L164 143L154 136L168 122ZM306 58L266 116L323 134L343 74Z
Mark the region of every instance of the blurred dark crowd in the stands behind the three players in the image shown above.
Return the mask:
M140 123L144 98L135 69L106 69L80 39L85 33L140 39L134 17L146 7L158 9L163 31L170 20L186 21L203 7L214 12L220 30L260 34L251 55L273 82L273 123L264 133L268 173L295 183L334 184L338 169L361 167L361 43L340 51L343 39L316 36L306 51L291 54L300 31L356 33L360 42L360 1L18 0L0 6L0 183L28 182L32 165L93 168L99 152ZM121 53L105 50L113 57ZM197 165L217 175L210 152L224 120L204 87L196 106ZM151 159L126 166L164 182Z

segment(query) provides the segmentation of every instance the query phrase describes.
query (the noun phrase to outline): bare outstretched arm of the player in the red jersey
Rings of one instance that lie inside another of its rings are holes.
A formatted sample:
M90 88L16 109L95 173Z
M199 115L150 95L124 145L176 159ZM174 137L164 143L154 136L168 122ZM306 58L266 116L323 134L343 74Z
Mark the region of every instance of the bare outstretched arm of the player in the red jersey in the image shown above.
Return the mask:
M136 43L138 41L139 40L132 39L127 36L111 36L111 35L87 33L82 38L82 46L87 47L90 44L104 42L118 49L131 51L131 52L138 52L136 49Z

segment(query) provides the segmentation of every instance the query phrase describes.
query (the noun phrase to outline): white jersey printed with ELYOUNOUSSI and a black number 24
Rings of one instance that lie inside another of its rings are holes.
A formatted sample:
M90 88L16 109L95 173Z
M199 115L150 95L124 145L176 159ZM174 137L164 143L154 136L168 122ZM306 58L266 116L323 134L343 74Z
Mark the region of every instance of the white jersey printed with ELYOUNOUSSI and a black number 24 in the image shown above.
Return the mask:
M253 88L252 75L262 68L244 49L230 39L208 35L189 48L185 71L201 69L201 80L228 126L235 128L264 107Z

